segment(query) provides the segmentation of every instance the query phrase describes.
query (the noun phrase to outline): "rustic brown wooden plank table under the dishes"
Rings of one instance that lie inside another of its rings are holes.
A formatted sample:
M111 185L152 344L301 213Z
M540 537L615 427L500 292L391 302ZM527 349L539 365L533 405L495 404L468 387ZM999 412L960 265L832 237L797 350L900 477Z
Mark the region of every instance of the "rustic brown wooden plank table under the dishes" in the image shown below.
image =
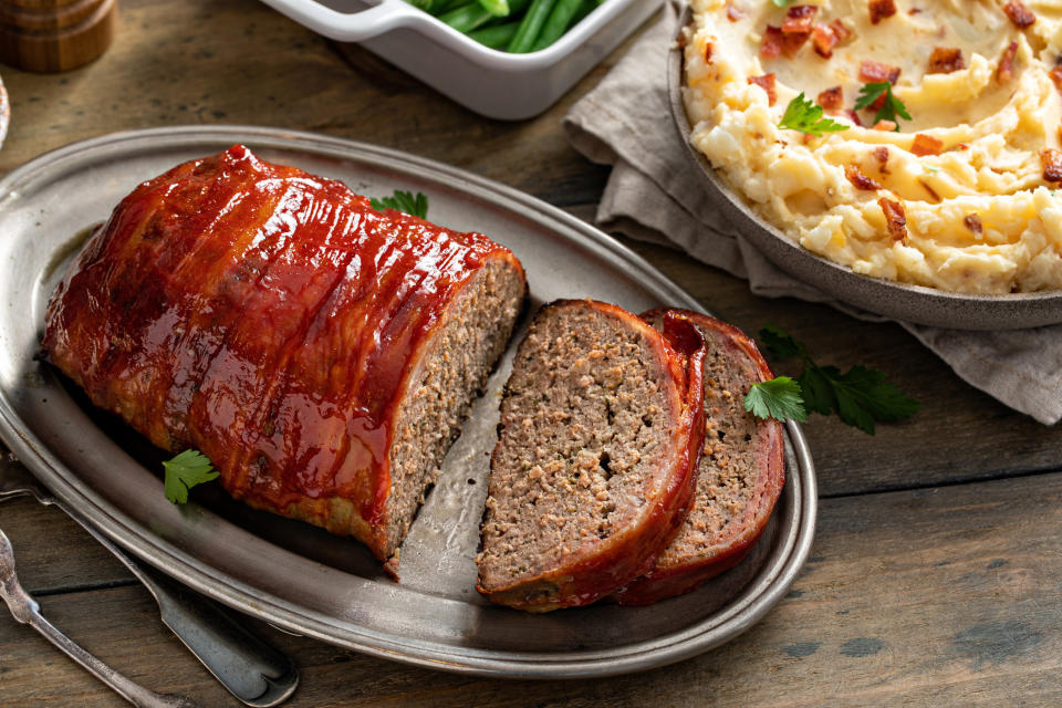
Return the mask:
M575 153L560 122L622 52L544 115L499 123L252 0L123 0L117 39L96 63L2 70L13 123L0 174L111 131L263 124L424 155L590 220L607 169ZM969 387L896 325L756 298L678 252L624 242L747 331L774 321L823 363L887 372L922 410L875 437L835 418L805 426L821 492L811 559L763 622L715 652L620 678L486 680L252 623L302 671L289 705L1062 705L1062 428ZM86 648L156 690L237 705L160 625L147 592L61 512L9 502L0 528L45 615ZM0 705L123 704L0 612Z

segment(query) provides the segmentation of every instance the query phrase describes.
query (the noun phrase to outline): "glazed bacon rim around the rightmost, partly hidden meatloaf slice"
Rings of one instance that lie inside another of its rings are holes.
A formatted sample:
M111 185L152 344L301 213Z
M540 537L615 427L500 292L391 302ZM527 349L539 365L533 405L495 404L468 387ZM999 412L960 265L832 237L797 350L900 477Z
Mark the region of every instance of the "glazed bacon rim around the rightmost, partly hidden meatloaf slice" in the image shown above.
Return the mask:
M646 312L642 316L648 321L656 321L676 312L695 323L701 331L716 332L725 336L753 364L760 381L774 376L756 343L733 325L686 310L659 309ZM668 555L667 561L662 556L653 570L615 593L612 596L615 602L624 605L647 605L689 592L719 573L733 568L752 550L763 534L785 483L782 425L773 419L759 420L757 428L757 473L753 493L738 519L728 523L702 552L681 558Z

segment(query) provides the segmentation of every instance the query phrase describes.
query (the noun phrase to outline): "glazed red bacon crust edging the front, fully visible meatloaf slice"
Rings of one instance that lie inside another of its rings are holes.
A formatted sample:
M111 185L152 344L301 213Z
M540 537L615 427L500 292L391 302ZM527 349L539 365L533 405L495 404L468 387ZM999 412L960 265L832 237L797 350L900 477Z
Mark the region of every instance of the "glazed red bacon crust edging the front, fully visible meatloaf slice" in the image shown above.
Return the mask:
M585 306L621 319L644 332L653 343L662 369L667 373L667 381L659 385L673 389L679 402L669 433L670 449L676 454L669 458L667 469L656 470L646 480L646 511L635 522L532 577L487 587L481 573L477 584L480 593L491 602L529 612L593 603L653 568L657 554L674 538L689 510L704 445L704 340L697 329L685 317L675 315L668 317L662 335L633 313L591 300L561 300L546 305L549 309ZM518 361L521 361L519 353ZM500 426L512 423L502 417ZM498 462L501 445L499 439L491 458L492 468Z

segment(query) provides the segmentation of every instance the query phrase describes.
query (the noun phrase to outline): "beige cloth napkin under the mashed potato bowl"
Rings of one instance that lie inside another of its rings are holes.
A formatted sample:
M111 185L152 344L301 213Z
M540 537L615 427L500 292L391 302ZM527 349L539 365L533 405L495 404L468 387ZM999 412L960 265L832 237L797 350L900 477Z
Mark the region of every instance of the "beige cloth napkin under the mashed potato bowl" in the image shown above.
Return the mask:
M670 116L665 67L676 23L669 4L660 21L564 118L576 149L613 166L597 223L680 248L748 279L756 294L825 302L857 317L883 321L779 270L711 206L691 175L694 167ZM1062 325L970 332L899 324L959 376L1011 408L1048 425L1062 418Z

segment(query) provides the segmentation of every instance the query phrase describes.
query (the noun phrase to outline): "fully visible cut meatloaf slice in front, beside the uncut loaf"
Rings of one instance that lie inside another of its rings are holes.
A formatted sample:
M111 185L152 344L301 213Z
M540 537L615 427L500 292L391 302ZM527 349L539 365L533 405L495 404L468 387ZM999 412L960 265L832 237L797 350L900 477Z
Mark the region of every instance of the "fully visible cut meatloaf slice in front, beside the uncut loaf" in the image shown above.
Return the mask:
M704 341L615 305L546 305L520 344L491 457L478 589L531 612L585 605L653 566L689 508Z

